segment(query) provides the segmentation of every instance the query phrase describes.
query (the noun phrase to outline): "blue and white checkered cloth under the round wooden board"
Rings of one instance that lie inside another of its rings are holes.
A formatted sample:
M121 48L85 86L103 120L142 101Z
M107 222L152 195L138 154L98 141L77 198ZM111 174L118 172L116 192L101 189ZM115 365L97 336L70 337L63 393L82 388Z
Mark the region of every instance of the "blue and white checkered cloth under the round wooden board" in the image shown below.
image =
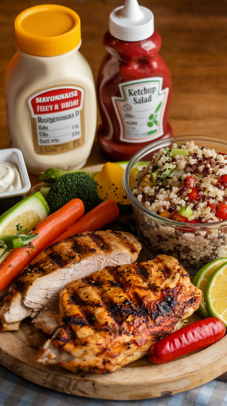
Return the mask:
M0 406L227 406L227 382L212 380L190 391L145 400L101 400L43 388L0 365Z

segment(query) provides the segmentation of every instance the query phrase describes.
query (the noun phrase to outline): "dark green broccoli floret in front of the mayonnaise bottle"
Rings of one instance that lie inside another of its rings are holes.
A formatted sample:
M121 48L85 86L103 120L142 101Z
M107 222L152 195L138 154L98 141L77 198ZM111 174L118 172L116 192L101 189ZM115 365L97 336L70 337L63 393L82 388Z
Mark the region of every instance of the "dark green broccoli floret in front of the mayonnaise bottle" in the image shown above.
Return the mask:
M97 185L94 179L85 171L67 173L60 177L51 186L46 200L51 213L53 213L75 198L83 201L85 213L102 202L98 196Z

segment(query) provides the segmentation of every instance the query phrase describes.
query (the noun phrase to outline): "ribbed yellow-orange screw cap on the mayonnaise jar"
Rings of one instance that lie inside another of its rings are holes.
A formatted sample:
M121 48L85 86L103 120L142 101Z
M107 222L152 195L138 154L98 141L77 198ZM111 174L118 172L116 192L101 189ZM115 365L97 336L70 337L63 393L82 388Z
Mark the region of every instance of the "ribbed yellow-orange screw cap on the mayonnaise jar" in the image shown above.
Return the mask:
M81 41L81 20L75 11L43 4L22 11L15 19L15 44L27 54L65 54Z

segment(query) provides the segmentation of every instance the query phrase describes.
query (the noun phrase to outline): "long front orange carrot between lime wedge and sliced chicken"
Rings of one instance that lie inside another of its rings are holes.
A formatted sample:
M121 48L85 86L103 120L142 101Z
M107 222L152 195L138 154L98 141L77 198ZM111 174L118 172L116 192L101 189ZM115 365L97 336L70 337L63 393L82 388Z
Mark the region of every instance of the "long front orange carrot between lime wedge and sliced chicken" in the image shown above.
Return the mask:
M33 240L36 251L32 248L15 248L2 262L0 267L0 291L16 278L16 276L37 257L48 245L68 229L70 225L83 216L85 208L82 200L72 199L61 209L57 210L36 225L33 234L39 237ZM30 255L28 254L30 253Z

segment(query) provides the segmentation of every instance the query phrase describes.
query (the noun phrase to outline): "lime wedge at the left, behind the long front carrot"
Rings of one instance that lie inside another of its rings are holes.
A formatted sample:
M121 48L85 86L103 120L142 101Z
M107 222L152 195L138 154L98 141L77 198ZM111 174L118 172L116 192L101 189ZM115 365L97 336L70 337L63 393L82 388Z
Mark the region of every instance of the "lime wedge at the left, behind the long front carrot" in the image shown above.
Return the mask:
M17 233L16 225L20 223L27 232L32 230L40 221L49 216L50 209L40 192L36 192L21 200L0 216L0 237L1 235L14 235ZM3 250L0 249L0 255ZM7 252L0 259L4 261L10 252Z

